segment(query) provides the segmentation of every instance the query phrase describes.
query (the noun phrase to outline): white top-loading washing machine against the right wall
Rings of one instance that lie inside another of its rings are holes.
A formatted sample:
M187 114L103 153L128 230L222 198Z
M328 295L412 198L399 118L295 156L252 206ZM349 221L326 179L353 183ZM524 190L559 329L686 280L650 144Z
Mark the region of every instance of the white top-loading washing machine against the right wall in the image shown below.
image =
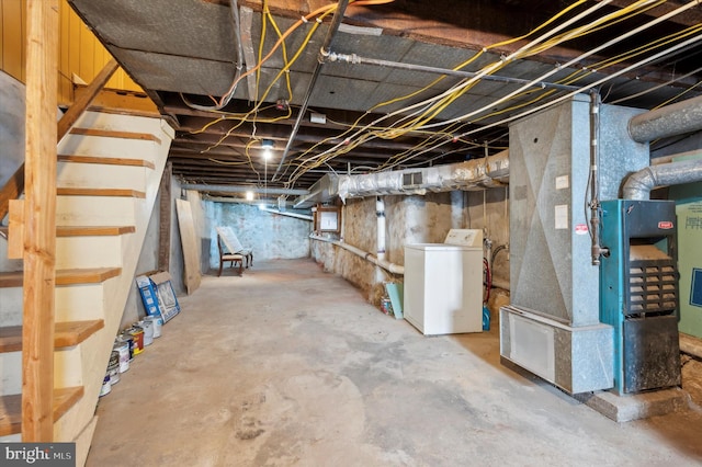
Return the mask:
M458 244L455 244L458 243ZM405 246L405 319L423 334L483 331L483 232Z

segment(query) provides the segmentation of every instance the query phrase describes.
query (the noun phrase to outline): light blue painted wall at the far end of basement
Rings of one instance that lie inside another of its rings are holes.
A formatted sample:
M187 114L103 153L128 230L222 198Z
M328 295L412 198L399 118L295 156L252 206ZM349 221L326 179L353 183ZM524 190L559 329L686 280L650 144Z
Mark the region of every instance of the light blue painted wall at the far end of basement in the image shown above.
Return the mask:
M254 265L259 260L309 257L312 223L308 220L268 213L248 204L214 201L203 204L212 269L219 267L217 226L231 227L241 244L253 250Z

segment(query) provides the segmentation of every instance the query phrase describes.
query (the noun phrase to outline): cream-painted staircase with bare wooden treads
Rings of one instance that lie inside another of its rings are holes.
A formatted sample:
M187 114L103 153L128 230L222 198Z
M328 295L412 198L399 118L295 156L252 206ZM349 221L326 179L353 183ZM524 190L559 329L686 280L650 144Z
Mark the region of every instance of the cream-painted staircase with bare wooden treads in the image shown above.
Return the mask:
M77 443L77 465L172 138L157 117L86 112L58 145L54 441ZM0 236L0 442L21 441L22 420L23 273L7 249Z

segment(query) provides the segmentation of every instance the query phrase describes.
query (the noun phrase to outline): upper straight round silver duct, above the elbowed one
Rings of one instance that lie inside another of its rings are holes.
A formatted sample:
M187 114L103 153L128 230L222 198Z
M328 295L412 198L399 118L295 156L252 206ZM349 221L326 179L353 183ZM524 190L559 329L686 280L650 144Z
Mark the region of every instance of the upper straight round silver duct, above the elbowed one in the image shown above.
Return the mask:
M702 95L632 117L629 134L636 143L702 129Z

